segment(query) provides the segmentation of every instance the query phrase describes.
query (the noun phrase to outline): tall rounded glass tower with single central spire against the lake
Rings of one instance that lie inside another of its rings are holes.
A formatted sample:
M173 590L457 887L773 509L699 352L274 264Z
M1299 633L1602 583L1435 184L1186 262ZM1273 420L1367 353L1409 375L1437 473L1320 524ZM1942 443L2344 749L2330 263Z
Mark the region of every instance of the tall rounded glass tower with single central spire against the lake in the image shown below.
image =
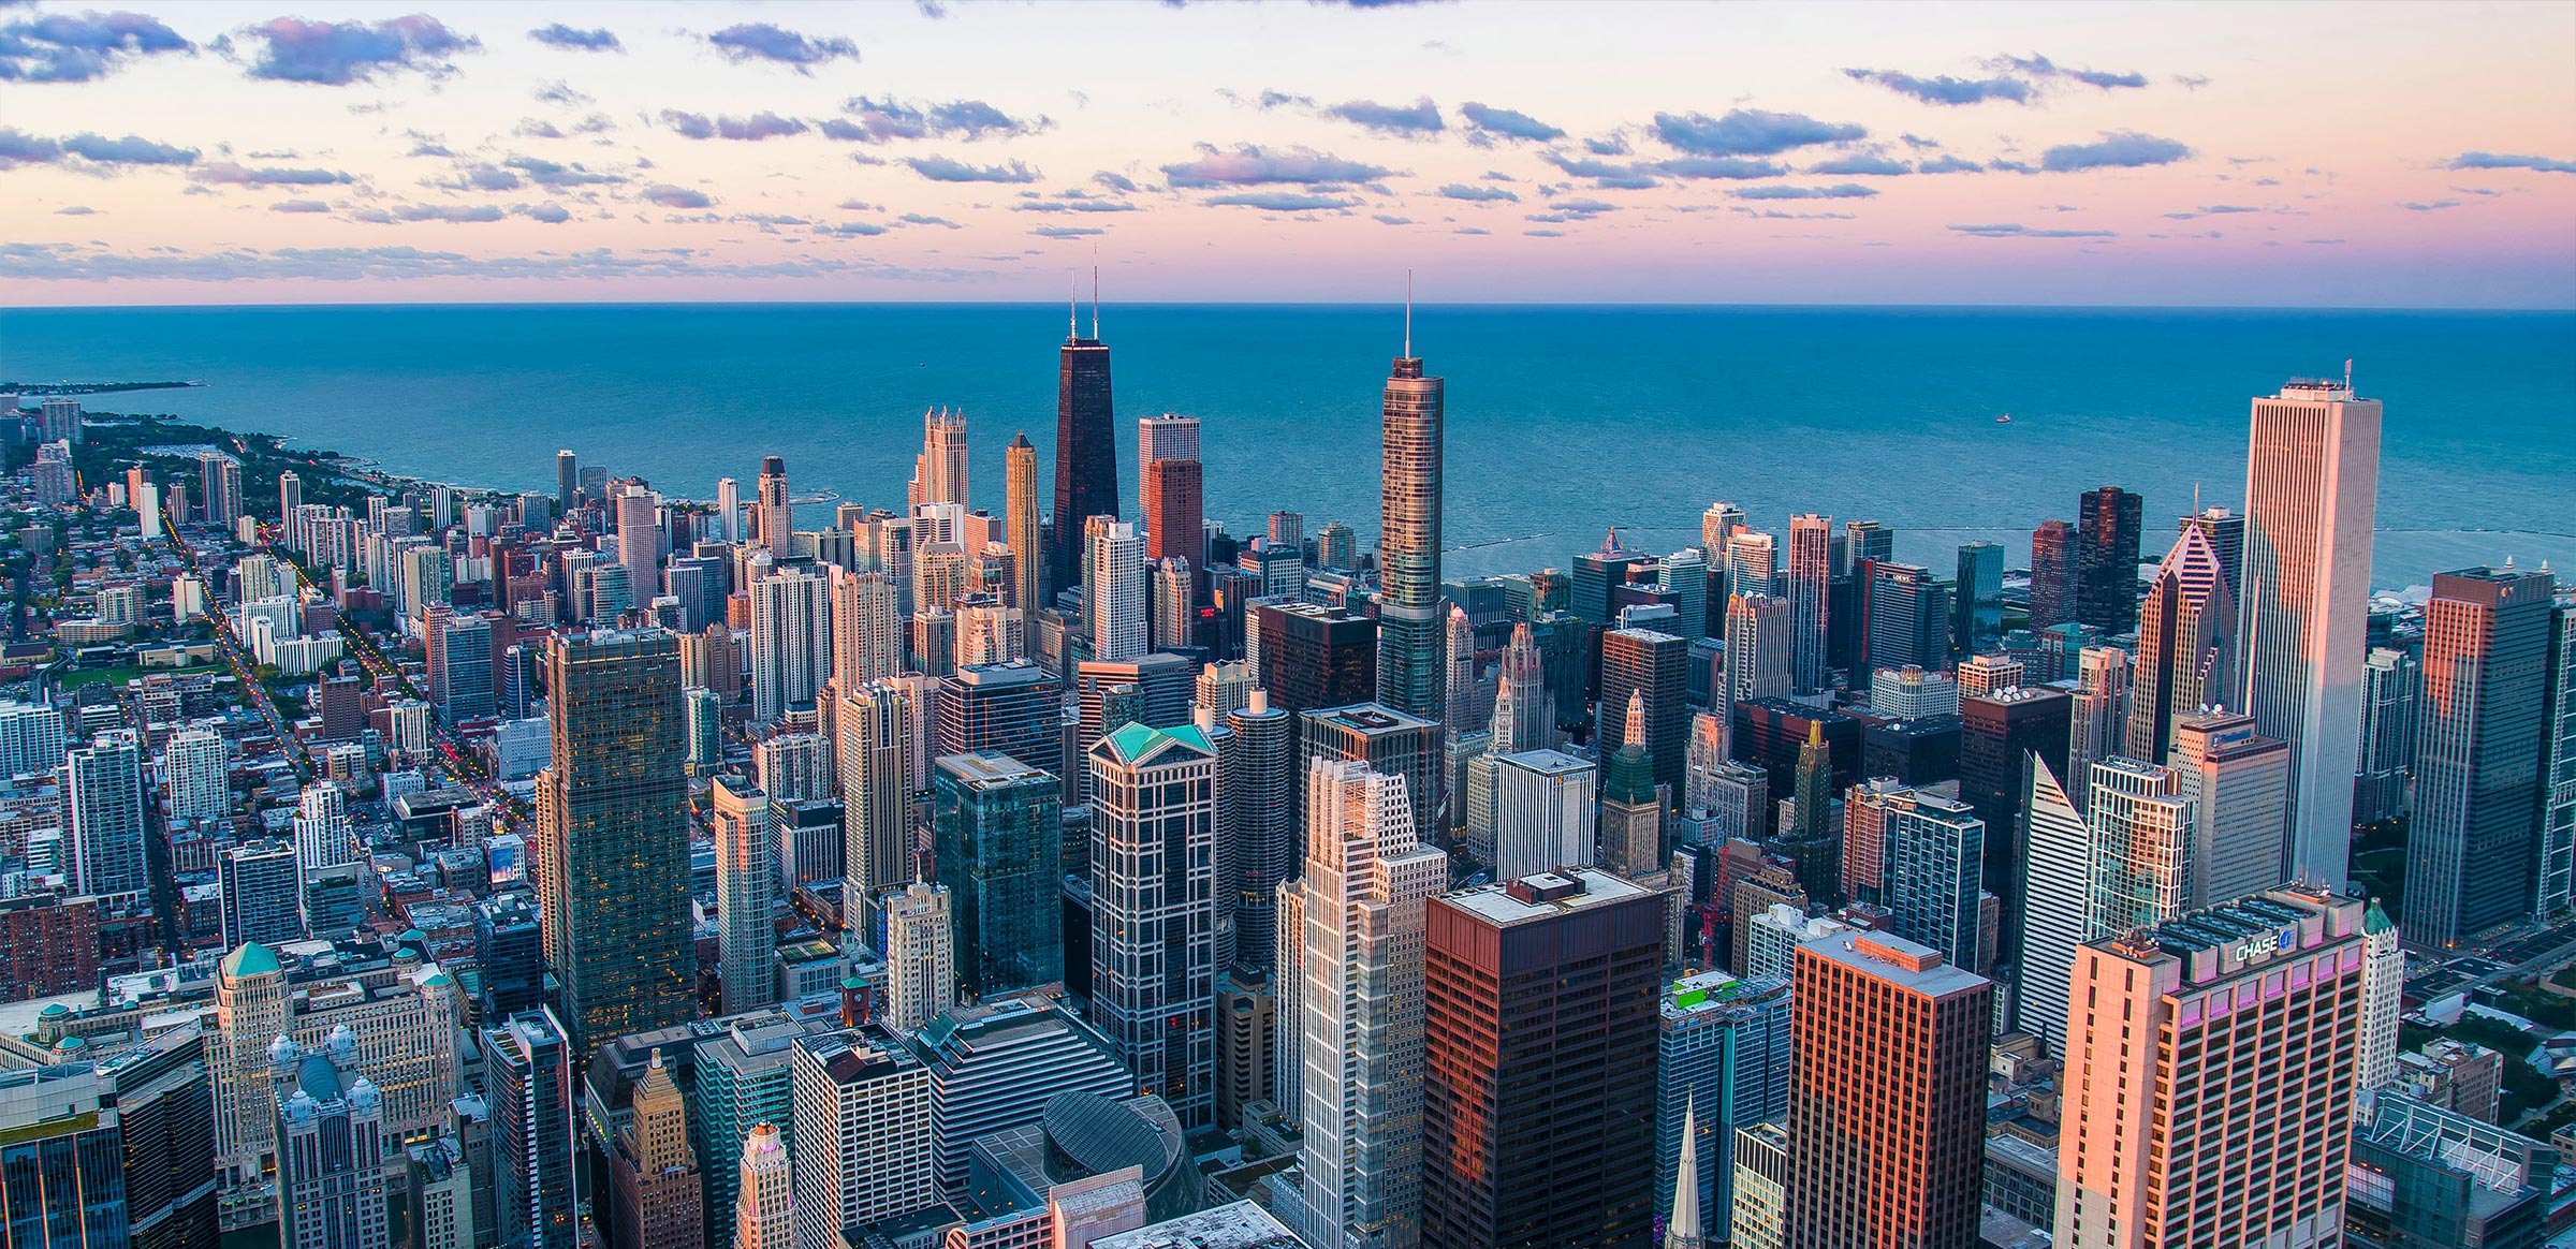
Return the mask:
M1404 301L1404 355L1386 379L1378 469L1378 700L1440 718L1440 425L1445 384L1422 376L1414 306ZM1425 806L1414 793L1414 806Z

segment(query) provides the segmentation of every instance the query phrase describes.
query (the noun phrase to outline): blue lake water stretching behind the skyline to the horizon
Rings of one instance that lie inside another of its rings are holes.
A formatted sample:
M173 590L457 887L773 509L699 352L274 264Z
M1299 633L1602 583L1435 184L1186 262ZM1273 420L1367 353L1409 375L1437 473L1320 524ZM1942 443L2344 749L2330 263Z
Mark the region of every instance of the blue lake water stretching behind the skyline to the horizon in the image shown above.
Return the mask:
M1054 451L1064 309L1007 304L209 306L0 312L0 376L204 379L100 397L294 435L386 469L554 489L554 451L714 497L765 453L799 494L902 505L920 417L961 407L974 502L1002 507L1002 446ZM1084 309L1084 319L1090 309ZM1108 306L1121 497L1133 417L1206 422L1208 515L1275 507L1309 533L1378 518L1388 306ZM2244 494L2246 407L2293 373L2388 404L2378 582L2576 559L2576 314L2174 309L1425 306L1448 379L1450 574L1564 567L1620 525L1698 541L1734 500L1875 518L1899 556L2074 518L2081 489L2172 515ZM2009 425L1996 415L2012 415ZM1048 469L1043 474L1051 474ZM1051 479L1051 476L1048 476Z

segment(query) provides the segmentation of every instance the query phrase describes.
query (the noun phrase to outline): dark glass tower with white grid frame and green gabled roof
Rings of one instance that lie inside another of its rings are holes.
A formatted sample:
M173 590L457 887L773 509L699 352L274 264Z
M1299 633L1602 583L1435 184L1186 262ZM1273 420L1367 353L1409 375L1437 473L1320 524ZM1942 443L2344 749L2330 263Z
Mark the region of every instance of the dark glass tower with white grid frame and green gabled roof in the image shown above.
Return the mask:
M1216 1120L1216 747L1126 724L1090 749L1092 1020L1136 1089Z

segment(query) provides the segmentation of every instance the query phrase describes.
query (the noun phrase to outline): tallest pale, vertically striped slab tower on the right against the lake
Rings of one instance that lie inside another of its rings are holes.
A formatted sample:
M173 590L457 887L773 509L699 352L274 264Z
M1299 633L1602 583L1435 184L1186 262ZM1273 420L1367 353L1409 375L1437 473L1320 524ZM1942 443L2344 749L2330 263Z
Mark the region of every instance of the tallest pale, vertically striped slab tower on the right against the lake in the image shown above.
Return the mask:
M2380 402L2347 381L2290 381L2254 399L2246 453L2239 706L2290 742L2290 878L2342 886L2352 868L2352 734L2370 626L2370 525Z

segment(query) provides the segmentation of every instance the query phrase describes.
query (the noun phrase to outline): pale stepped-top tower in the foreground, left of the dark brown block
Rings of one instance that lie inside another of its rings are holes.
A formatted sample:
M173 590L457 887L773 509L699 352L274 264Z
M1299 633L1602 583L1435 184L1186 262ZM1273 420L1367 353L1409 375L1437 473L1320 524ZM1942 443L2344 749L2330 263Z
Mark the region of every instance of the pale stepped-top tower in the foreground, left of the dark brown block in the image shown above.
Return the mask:
M1306 773L1303 930L1280 973L1303 979L1301 1167L1309 1244L1419 1244L1422 917L1448 855L1414 834L1404 780L1360 762ZM1288 966L1293 958L1296 966Z

